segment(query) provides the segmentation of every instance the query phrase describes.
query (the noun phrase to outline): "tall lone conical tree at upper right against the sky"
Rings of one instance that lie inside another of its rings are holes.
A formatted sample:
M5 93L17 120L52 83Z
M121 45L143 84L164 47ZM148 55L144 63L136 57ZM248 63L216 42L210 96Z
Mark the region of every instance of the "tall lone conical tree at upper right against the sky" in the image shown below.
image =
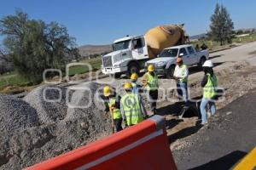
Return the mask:
M213 41L220 42L220 45L223 45L224 42L232 41L234 23L227 8L223 5L216 4L214 14L211 17L210 29L210 37Z

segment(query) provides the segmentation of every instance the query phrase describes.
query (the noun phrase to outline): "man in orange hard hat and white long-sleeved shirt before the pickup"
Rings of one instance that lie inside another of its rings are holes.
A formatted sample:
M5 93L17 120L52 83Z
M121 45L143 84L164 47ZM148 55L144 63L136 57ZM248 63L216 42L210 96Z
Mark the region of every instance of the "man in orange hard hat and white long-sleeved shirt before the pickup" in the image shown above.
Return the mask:
M177 94L182 97L183 102L188 102L188 77L189 69L187 65L183 64L183 59L178 57L176 60L176 67L173 73L174 79L177 81Z

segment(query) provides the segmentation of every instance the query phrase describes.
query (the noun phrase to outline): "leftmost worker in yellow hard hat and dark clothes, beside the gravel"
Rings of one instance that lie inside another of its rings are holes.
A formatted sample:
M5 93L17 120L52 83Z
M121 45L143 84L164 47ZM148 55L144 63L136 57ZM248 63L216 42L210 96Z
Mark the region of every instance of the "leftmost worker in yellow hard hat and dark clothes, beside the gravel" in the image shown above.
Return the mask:
M110 112L113 120L113 124L115 126L116 132L123 130L122 127L122 114L120 111L120 96L113 92L113 88L109 86L105 86L103 88L103 95L106 97L107 107L105 109L106 112ZM106 105L106 103L105 103Z

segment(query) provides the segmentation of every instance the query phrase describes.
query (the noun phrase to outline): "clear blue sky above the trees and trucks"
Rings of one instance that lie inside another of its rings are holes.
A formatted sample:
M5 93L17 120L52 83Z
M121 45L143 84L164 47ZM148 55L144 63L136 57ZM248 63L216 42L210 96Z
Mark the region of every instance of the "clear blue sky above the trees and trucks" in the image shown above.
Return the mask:
M67 26L79 46L109 44L167 24L184 23L189 36L205 33L216 3L228 9L235 29L256 27L255 0L0 0L0 19L21 9L31 19Z

